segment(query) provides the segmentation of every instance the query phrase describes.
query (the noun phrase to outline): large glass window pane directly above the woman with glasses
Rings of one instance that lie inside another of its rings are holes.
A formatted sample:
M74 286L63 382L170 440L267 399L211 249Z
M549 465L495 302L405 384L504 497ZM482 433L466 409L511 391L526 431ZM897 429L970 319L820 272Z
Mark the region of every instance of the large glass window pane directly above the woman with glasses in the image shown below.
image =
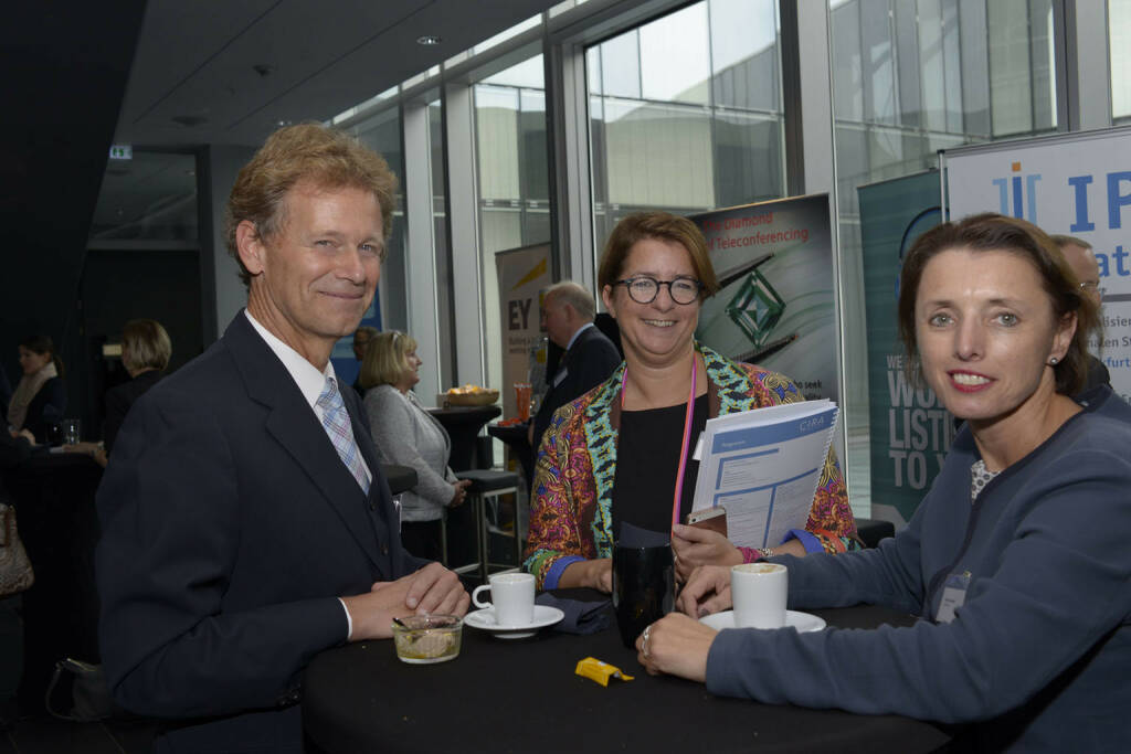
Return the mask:
M778 37L775 0L703 0L588 50L598 249L633 211L783 196Z

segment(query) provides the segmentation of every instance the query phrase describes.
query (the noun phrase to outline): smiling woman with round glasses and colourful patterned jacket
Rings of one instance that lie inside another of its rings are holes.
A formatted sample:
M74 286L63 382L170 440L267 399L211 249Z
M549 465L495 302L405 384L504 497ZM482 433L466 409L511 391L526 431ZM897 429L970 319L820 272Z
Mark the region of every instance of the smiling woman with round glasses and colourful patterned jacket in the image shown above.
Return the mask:
M694 341L702 300L717 283L707 242L691 220L667 213L625 217L605 245L598 281L620 326L625 363L560 408L538 450L525 563L538 586L610 591L622 522L671 531L681 578L703 563L858 546L831 449L805 530L780 546L740 548L720 534L676 522L691 510L699 469L692 451L708 417L803 397L788 378Z

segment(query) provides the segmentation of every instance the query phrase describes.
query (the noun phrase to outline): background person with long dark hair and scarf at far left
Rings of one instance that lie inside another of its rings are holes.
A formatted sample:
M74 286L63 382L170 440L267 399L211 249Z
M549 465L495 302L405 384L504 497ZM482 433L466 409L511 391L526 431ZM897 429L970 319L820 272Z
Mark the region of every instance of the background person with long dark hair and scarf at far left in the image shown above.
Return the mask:
M33 335L19 343L19 379L8 404L8 430L27 430L38 442L48 439L48 427L67 410L63 363L55 344L45 335Z

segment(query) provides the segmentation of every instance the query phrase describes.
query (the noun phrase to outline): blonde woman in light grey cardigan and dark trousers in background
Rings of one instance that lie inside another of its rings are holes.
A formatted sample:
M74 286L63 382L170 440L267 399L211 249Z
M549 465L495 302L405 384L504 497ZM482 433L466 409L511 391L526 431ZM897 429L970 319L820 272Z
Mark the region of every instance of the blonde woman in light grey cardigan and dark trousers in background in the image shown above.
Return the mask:
M443 508L463 503L470 482L448 468L451 439L412 391L423 363L413 338L381 332L365 350L359 380L378 459L416 471L416 486L400 494L400 541L413 555L440 560Z

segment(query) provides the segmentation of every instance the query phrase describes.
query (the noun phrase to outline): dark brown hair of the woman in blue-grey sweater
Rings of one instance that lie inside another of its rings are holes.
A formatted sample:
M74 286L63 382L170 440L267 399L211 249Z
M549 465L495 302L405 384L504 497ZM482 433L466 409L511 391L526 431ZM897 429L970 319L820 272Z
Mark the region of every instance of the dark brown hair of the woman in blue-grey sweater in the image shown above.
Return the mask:
M1076 274L1056 243L1041 228L1026 220L993 213L972 215L957 223L943 223L924 233L912 246L900 271L899 337L907 348L907 366L922 383L918 339L915 333L915 300L927 262L944 251L1004 251L1025 259L1041 276L1052 301L1054 321L1076 314L1076 333L1068 352L1054 367L1056 391L1079 392L1088 376L1088 338L1099 329L1096 304L1080 293Z

